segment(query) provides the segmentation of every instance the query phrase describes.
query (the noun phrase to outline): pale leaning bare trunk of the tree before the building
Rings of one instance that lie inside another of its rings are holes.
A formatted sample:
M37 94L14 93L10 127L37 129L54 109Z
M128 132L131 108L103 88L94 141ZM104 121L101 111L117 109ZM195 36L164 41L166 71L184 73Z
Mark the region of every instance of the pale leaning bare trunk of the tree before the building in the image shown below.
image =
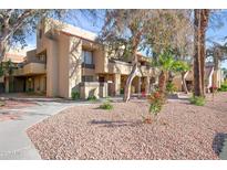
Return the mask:
M136 76L137 70L138 70L138 66L137 66L137 63L135 63L133 65L132 72L130 73L130 75L127 77L126 85L125 85L125 88L124 88L124 98L123 98L123 100L126 102L126 103L130 100L131 86L132 86L133 78Z

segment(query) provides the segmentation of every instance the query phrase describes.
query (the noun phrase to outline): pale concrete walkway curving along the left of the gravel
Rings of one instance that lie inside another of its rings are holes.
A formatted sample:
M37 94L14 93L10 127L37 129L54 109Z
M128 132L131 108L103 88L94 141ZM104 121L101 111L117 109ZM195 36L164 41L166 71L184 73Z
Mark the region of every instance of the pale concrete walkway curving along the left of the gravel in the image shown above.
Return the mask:
M0 121L0 160L41 159L25 130L32 125L75 105L87 104L39 102L35 106L21 108L23 114L18 119ZM9 110L0 110L0 113ZM10 111L18 111L18 109Z

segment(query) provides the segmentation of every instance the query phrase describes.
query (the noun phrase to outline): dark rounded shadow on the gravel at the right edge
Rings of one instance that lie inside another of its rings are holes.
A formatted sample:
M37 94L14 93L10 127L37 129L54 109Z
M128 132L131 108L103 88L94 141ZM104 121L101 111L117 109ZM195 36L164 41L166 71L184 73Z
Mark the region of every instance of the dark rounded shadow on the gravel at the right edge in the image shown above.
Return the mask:
M224 132L217 132L213 139L213 150L217 156L219 156L224 148L225 139L227 139L227 134Z

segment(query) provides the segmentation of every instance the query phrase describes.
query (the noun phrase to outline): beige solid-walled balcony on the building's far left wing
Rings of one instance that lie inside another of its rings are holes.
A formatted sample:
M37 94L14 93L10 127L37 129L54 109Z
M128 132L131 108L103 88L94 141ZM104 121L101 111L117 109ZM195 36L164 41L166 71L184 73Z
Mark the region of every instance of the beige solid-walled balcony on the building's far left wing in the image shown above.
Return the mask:
M45 74L45 64L29 63L25 64L22 68L18 68L13 72L14 76L35 75L35 74Z

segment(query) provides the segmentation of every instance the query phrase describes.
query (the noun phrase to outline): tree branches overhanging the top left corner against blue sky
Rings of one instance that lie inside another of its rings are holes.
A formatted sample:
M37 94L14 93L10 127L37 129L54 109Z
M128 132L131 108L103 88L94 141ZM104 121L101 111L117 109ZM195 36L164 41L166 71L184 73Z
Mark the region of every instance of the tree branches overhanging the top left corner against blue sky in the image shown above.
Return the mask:
M48 9L9 9L0 10L0 61L12 46L27 45L27 36L37 30L38 22L43 18L64 20L82 15L96 17L96 10L48 10ZM50 20L51 22L51 20ZM52 26L59 26L50 23Z

